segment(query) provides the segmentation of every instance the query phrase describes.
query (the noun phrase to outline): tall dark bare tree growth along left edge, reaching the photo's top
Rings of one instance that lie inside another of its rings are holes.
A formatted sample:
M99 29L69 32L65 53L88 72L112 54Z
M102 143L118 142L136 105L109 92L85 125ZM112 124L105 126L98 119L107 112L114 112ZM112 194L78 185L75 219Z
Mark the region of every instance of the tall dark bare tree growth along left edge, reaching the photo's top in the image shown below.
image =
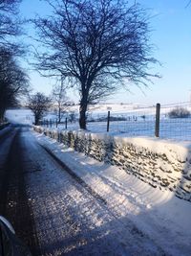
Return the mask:
M28 76L16 59L23 53L15 43L15 36L21 33L17 15L20 2L0 0L0 120L6 109L17 105L29 88Z

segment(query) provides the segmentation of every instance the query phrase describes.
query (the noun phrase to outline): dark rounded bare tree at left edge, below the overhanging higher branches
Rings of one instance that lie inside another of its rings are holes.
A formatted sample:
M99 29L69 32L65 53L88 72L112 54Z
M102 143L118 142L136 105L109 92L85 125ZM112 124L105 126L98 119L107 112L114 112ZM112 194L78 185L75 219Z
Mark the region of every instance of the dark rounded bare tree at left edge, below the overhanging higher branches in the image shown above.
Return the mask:
M0 121L8 107L27 95L29 79L8 49L0 47Z

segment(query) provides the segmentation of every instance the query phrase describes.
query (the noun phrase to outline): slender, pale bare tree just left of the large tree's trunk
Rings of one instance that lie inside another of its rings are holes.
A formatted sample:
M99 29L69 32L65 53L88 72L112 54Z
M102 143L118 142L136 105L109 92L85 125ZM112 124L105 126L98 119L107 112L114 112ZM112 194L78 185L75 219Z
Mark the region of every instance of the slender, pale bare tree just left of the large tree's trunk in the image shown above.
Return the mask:
M61 77L61 82L53 86L52 92L53 106L56 107L58 124L60 124L63 115L69 106L67 105L69 98L66 95L66 88Z

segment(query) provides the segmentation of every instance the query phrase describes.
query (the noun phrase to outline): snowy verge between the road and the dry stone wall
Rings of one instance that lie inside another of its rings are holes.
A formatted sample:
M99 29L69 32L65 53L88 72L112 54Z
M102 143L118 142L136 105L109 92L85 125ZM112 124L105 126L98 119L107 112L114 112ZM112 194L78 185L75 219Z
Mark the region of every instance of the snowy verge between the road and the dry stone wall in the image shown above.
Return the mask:
M124 170L97 162L42 134L35 132L33 134L41 145L53 151L76 175L107 201L108 208L118 220L122 221L124 217L128 217L165 253L177 256L190 255L190 202L175 197L170 191L152 188L136 176L128 175ZM138 144L145 143L144 139L133 140ZM167 145L159 144L158 150L165 151ZM152 147L152 140L150 143L147 142L147 146ZM173 147L176 151L177 146ZM179 147L181 149L182 146ZM186 147L190 149L189 145Z

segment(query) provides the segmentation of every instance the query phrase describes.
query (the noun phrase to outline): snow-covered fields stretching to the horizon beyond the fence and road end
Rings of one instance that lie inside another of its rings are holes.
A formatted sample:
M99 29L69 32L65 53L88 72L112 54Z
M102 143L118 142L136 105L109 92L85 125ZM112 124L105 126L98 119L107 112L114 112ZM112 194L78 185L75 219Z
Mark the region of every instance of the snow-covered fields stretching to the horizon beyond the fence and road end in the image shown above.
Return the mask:
M183 106L183 105L182 105ZM160 109L160 129L159 137L176 140L191 140L191 118L168 118L168 113L173 106L161 106ZM186 105L191 110L189 105ZM155 136L155 116L156 106L143 105L94 105L89 107L87 128L91 132L107 131L107 113L111 112L110 130L111 135L118 136ZM70 122L70 113L78 117L78 105L70 106L68 117L68 129L79 129L78 122ZM8 110L6 117L13 123L32 124L33 114L29 109L13 109ZM59 129L65 129L65 117L63 123L58 125ZM119 121L114 121L117 118ZM53 120L52 128L55 128L56 115L49 112L44 116L44 120ZM97 122L102 120L102 122ZM121 121L120 121L121 120ZM94 122L93 122L94 121Z

